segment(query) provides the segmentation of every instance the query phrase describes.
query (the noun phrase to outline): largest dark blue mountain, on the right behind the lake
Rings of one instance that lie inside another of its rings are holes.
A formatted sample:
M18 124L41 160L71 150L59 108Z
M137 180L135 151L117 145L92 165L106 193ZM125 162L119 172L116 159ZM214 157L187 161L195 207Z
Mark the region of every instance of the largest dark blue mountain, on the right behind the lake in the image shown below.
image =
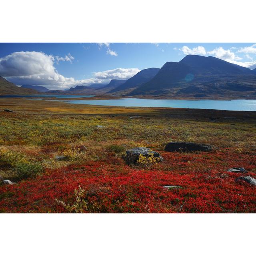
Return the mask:
M255 93L254 70L212 56L187 55L180 62L166 62L154 78L127 95L207 98Z

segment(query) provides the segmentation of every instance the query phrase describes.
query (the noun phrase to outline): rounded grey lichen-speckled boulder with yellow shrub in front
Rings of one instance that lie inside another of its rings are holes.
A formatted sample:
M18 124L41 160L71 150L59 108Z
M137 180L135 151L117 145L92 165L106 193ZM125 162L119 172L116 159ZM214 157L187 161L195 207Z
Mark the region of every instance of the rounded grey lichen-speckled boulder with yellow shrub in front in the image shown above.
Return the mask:
M150 148L132 148L130 150L126 150L126 154L123 158L127 164L136 164L140 155L146 156L147 158L153 155L157 158L157 162L162 162L163 160L162 156L158 152L152 151Z

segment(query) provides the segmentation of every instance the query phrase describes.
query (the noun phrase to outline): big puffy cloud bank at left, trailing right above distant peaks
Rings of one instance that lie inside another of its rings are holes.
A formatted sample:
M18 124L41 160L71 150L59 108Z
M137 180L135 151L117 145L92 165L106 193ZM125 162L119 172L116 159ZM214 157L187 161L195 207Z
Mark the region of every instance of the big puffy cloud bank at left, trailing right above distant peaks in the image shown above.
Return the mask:
M72 61L71 54L63 57L64 61ZM47 55L43 52L13 52L0 58L0 76L7 78L14 84L42 85L49 89L65 89L70 86L108 82L110 79L128 79L134 76L137 68L117 68L96 72L92 78L76 80L67 78L58 73L54 67L56 56Z

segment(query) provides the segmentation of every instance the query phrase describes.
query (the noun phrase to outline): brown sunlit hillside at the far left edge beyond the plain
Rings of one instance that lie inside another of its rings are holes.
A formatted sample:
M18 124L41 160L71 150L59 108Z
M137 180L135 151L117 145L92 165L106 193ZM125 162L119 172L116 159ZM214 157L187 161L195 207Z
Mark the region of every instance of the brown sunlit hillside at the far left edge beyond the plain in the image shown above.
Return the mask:
M38 94L36 90L21 88L0 76L0 95Z

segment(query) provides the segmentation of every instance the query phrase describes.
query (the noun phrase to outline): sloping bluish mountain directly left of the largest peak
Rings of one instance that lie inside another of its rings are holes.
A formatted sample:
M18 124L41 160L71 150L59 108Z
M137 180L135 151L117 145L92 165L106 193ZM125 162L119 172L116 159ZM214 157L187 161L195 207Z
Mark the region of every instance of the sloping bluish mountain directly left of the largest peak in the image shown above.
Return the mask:
M131 88L137 87L150 81L160 70L160 68L147 68L138 72L133 77L129 78L124 84L110 90L108 93L120 92L124 90L130 90Z

